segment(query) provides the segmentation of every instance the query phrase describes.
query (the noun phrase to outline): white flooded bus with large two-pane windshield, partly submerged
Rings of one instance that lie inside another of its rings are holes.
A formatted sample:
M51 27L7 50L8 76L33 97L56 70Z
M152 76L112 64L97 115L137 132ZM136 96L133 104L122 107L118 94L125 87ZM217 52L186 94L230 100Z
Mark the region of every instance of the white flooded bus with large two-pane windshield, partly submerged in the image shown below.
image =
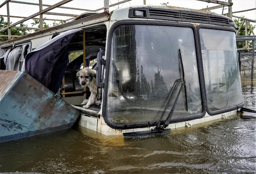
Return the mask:
M189 127L226 118L243 106L234 22L211 12L120 8L0 48L1 73L24 70L79 111L79 126L105 135ZM71 60L71 54L77 57ZM100 106L83 107L91 95L77 79L84 67L96 71L91 78ZM51 117L65 115L59 112Z

